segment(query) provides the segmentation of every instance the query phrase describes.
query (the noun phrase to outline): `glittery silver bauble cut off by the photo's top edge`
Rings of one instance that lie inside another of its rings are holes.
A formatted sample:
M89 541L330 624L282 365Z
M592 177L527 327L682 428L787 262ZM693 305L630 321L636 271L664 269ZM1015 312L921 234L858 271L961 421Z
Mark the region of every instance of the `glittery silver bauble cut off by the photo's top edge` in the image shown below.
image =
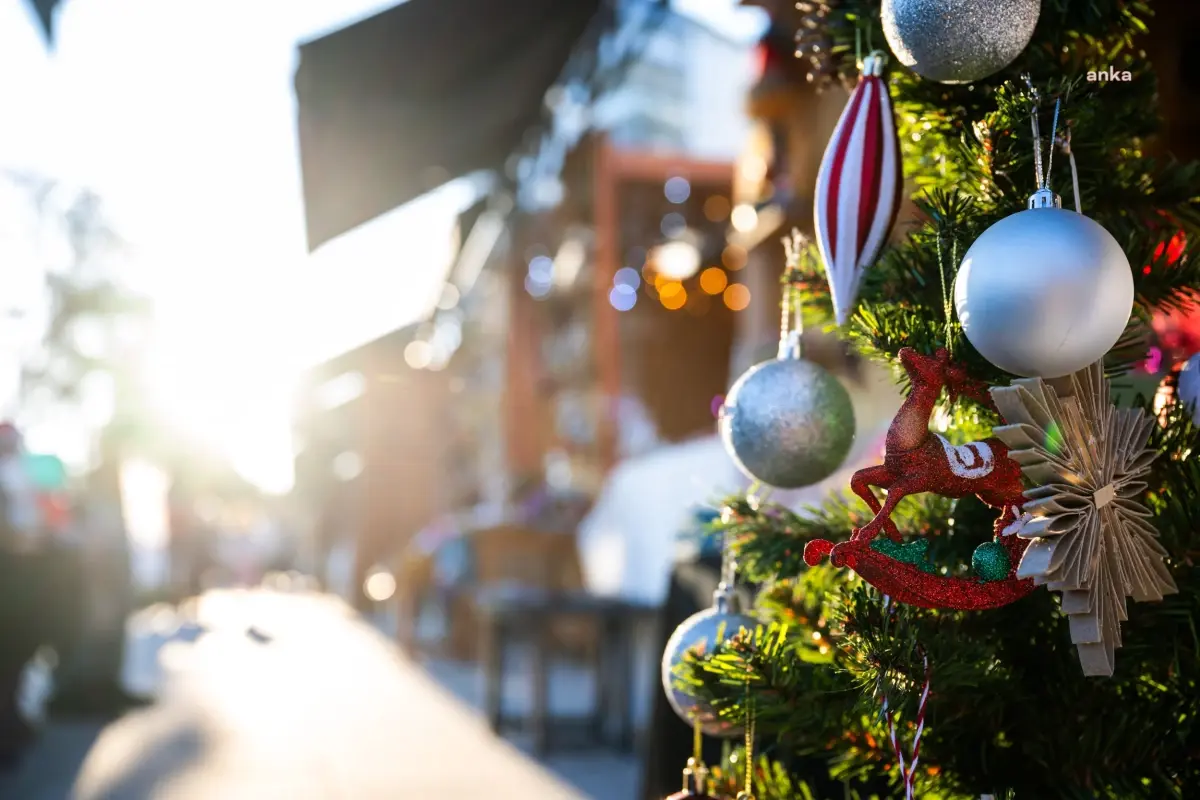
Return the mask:
M1030 43L1042 0L883 0L883 35L900 64L938 83L971 83Z

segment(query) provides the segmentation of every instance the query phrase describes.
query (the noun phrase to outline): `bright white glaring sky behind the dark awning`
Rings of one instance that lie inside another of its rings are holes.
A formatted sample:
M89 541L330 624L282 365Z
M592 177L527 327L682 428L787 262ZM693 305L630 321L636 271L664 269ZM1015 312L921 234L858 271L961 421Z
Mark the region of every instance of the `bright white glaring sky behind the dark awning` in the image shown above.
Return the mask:
M286 491L296 375L428 311L469 200L450 185L306 253L296 44L396 0L66 0L54 53L28 5L0 0L0 169L101 194L158 311L156 402L246 477ZM677 0L752 37L761 20L734 5ZM402 264L414 241L421 257ZM0 241L8 264L13 247ZM28 301L36 281L0 270L0 291ZM0 320L0 396L18 350L6 331ZM70 457L79 433L30 431L30 445Z

